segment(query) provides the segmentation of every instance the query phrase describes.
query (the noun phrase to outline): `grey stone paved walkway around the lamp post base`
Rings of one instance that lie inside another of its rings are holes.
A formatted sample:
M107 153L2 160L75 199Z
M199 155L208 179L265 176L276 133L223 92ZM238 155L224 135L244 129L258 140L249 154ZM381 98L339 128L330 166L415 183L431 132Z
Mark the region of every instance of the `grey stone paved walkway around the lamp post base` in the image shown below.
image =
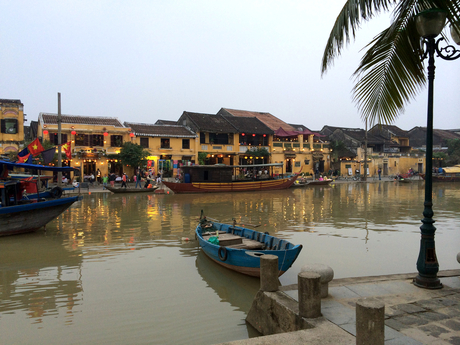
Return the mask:
M460 270L439 272L442 289L412 284L416 274L346 278L329 284L322 318L315 328L225 344L355 344L356 301L375 298L385 304L385 344L460 344ZM298 301L297 285L280 288ZM310 320L309 320L310 321Z

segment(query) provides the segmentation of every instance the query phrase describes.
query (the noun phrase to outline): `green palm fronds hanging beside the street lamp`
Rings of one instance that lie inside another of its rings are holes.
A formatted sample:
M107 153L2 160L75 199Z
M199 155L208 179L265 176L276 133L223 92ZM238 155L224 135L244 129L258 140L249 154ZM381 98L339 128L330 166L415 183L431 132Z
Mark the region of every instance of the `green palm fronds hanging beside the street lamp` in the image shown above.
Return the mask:
M323 75L343 46L355 37L361 22L392 9L390 26L367 45L353 74L353 100L363 120L371 125L393 122L425 86L414 17L430 8L446 10L450 23L460 22L460 0L348 0L337 17L324 50Z

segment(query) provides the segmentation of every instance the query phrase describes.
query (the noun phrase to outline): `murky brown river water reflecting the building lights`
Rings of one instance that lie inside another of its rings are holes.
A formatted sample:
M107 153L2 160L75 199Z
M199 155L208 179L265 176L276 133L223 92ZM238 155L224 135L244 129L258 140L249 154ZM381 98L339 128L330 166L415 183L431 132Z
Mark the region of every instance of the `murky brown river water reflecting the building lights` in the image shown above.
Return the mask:
M245 324L259 280L211 262L194 241L200 211L261 224L335 278L416 272L423 181L261 193L93 193L46 232L0 238L2 344L215 344ZM440 269L458 268L460 184L434 184ZM190 240L184 240L189 238Z

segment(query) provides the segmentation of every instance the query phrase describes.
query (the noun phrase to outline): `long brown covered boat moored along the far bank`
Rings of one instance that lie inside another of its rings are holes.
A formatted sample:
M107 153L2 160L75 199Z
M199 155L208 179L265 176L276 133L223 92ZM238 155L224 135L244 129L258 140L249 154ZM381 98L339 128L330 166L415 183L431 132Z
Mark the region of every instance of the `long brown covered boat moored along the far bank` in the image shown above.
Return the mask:
M184 166L182 182L163 181L174 193L249 192L287 189L298 175L275 177L282 163Z

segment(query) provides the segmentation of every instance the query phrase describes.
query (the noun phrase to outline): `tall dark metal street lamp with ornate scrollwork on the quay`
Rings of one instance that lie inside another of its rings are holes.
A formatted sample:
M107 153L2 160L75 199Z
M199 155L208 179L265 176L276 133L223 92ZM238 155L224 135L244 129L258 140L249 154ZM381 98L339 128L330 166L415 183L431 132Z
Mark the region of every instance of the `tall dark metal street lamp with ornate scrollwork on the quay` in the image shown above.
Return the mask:
M440 289L442 284L437 277L439 271L438 259L434 243L436 228L433 223L432 202L432 168L433 168L433 82L434 82L434 53L444 60L455 60L460 57L460 50L447 45L442 48L439 43L443 37L436 40L446 23L446 11L431 9L420 12L415 17L417 31L422 40L422 60L428 57L428 119L426 126L426 174L425 174L425 203L422 219L420 253L417 260L418 275L414 279L414 285L426 289ZM452 38L460 44L458 32L451 26Z

